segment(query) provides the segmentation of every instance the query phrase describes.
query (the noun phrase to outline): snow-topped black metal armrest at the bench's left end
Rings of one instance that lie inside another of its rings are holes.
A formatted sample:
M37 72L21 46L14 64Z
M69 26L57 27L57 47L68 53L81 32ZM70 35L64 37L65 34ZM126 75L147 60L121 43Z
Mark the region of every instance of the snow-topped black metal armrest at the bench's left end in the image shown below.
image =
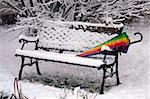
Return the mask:
M27 37L25 35L19 36L19 42L22 43L21 49L24 48L24 45L26 43L35 43L35 50L36 50L38 48L38 41L39 41L39 36L36 36L36 37Z

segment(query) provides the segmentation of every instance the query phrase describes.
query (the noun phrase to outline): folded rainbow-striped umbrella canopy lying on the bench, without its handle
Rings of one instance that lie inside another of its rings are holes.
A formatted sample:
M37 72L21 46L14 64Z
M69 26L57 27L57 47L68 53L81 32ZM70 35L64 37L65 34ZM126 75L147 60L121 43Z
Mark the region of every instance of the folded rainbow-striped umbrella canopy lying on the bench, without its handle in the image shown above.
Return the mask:
M116 36L116 37L114 37L92 49L89 49L77 56L86 57L86 56L98 54L102 51L103 46L107 46L111 50L117 50L118 52L127 53L129 43L130 43L130 39L128 38L127 33L123 32L123 33L119 34L118 36Z

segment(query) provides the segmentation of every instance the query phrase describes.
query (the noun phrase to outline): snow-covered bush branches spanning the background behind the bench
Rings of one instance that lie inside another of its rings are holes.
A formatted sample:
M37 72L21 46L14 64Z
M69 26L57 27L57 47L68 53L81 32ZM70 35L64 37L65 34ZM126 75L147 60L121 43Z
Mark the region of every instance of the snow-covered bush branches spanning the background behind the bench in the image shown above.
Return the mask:
M12 2L13 1L13 2ZM108 22L142 18L149 0L2 0L20 16L51 20Z

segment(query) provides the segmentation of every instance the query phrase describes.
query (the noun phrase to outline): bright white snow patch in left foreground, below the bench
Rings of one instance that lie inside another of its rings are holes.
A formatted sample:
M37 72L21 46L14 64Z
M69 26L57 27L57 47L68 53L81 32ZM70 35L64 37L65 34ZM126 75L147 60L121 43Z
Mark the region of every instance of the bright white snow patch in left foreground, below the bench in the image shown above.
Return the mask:
M30 99L59 99L59 97L64 94L63 89L29 82L20 83L23 89L22 93Z

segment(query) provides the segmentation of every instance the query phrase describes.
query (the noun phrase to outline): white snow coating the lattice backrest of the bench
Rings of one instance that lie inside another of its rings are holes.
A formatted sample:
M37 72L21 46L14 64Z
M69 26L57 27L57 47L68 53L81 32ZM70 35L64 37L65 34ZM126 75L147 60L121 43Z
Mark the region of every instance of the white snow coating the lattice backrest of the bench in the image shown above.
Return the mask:
M87 26L91 26L90 28L92 29L89 28L89 31L85 31ZM110 36L107 33L91 32L93 28L100 26L105 27L103 24L46 20L43 22L42 29L39 32L38 46L42 48L85 51L117 35L114 33ZM79 29L81 27L83 29ZM120 29L121 27L118 25L115 28Z

